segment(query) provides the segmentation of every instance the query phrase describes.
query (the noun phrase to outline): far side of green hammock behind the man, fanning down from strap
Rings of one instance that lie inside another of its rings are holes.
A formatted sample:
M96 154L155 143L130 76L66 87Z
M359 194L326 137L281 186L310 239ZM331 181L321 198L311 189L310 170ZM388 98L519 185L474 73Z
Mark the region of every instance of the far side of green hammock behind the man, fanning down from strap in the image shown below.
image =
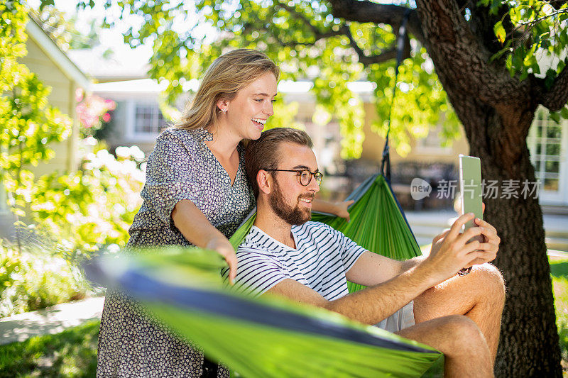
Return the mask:
M395 199L391 186L382 174L369 177L347 197L355 202L349 207L350 222L332 214L312 214L312 221L327 223L354 240L361 247L395 260L408 260L422 255ZM251 213L230 239L236 248L253 226L256 213ZM349 282L349 291L364 286Z

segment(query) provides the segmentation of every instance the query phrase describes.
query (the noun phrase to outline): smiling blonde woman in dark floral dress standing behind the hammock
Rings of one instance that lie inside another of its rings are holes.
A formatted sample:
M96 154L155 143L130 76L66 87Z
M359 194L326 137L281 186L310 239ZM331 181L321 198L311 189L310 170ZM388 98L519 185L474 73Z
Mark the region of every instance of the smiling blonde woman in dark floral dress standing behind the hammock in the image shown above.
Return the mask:
M229 238L254 206L241 141L258 139L273 114L278 67L254 50L218 57L182 121L165 130L148 158L144 199L127 247L197 245L216 250L236 273ZM349 203L315 204L348 216ZM123 294L107 294L99 333L97 377L228 377L202 353L151 321Z

